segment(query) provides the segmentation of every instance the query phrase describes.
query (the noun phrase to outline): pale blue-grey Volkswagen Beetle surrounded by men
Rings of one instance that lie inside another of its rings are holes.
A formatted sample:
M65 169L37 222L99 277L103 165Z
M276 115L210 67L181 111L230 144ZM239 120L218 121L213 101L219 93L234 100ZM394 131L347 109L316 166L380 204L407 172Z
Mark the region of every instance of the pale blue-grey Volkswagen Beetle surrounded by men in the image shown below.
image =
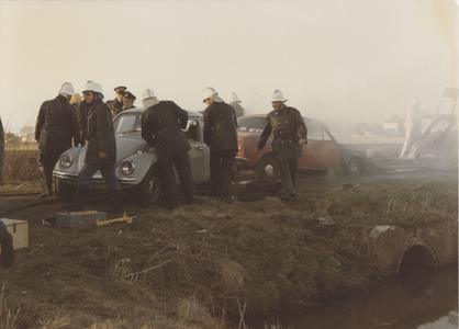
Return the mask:
M155 148L150 148L142 138L141 115L144 107L136 107L121 112L114 120L116 138L115 172L120 179L124 193L135 194L142 206L155 204L161 194L158 157ZM210 183L210 150L204 144L202 114L188 111L188 124L183 131L191 149L188 151L194 184ZM87 145L66 150L57 161L53 171L57 196L72 197L77 190L78 172L83 166ZM179 182L177 172L176 181ZM92 190L109 190L102 175L98 171L92 178Z

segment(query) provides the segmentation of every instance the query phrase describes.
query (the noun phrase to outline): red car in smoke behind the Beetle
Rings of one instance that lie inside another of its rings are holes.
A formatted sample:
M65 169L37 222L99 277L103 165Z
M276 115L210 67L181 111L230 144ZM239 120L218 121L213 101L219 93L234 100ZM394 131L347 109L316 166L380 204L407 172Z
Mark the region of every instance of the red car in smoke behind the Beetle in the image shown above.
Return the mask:
M327 127L318 120L303 117L307 127L307 144L303 145L303 157L299 160L299 171L344 170L357 174L369 166L363 149L352 149L340 145ZM266 114L246 115L237 118L238 152L237 157L246 158L245 170L254 170L260 182L275 182L280 179L280 162L273 157L272 134L265 148L256 152L256 146L267 124Z

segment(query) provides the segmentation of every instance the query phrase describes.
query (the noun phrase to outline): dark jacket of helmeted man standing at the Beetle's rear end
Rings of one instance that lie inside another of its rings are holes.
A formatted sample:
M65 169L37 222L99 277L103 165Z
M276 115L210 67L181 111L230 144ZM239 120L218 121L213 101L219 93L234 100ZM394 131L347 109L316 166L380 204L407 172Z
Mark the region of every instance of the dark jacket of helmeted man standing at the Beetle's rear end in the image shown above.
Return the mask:
M213 102L204 111L204 143L211 152L237 151L237 121L233 106Z

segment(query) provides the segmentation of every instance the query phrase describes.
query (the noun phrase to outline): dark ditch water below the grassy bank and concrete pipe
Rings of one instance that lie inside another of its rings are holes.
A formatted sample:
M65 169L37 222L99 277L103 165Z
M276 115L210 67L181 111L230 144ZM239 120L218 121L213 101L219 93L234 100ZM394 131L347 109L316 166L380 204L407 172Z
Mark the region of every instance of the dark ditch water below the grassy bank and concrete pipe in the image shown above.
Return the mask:
M296 314L246 319L245 326L249 329L457 329L458 269L457 265L440 270L411 269L366 294L334 298Z

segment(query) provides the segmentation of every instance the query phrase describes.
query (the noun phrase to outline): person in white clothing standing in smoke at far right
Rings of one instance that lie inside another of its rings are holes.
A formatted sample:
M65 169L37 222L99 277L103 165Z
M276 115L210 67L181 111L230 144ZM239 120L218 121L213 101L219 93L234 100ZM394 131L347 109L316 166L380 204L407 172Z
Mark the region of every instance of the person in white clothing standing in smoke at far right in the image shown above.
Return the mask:
M419 111L419 99L414 98L411 101L411 106L408 111L406 111L405 116L405 141L403 143L403 148L400 154L400 160L403 160L406 158L407 155L405 155L407 147L413 144L413 141L422 135L421 132L421 121L423 118L433 117L435 114L427 113L424 111Z

